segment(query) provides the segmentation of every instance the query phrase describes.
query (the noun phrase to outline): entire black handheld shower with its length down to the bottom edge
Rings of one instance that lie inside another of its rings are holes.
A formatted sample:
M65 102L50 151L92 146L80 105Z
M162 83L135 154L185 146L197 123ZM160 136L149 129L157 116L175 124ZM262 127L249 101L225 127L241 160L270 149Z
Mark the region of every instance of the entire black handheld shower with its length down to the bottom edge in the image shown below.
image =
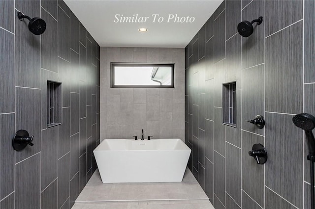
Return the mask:
M312 130L315 128L315 117L308 113L300 113L292 118L295 126L303 129L306 135L306 141L309 147L309 155L311 170L311 209L315 209L314 197L314 162L315 162L315 139Z

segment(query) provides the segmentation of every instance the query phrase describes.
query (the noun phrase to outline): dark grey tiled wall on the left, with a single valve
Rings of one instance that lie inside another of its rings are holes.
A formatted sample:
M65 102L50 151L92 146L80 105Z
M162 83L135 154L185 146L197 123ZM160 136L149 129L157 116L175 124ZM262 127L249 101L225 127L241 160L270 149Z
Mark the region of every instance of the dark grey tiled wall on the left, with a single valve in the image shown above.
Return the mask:
M99 46L58 0L0 1L0 209L70 209L96 169ZM33 35L17 12L41 17ZM62 124L47 129L47 80L62 82ZM16 152L15 132L34 135Z

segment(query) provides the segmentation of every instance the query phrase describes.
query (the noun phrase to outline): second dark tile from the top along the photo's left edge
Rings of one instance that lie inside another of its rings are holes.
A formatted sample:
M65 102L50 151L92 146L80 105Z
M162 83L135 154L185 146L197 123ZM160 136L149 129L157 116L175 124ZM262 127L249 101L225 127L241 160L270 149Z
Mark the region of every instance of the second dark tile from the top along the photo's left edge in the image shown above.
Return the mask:
M0 73L0 113L14 112L14 35L3 29L0 29Z

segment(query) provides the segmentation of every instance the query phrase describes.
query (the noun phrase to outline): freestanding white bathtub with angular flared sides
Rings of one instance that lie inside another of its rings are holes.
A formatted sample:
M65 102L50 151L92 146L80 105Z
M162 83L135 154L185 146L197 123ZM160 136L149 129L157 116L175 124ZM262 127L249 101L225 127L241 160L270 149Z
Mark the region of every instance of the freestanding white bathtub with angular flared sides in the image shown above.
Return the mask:
M103 183L181 182L191 150L181 139L104 139L93 151Z

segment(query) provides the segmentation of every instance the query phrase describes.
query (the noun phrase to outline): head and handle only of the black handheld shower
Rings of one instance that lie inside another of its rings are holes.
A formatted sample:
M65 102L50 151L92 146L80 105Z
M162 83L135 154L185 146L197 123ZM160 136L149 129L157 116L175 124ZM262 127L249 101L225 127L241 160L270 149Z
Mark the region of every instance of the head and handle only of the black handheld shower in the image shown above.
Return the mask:
M300 113L292 118L295 126L305 131L309 152L315 154L315 138L312 130L315 128L315 117L308 113Z

